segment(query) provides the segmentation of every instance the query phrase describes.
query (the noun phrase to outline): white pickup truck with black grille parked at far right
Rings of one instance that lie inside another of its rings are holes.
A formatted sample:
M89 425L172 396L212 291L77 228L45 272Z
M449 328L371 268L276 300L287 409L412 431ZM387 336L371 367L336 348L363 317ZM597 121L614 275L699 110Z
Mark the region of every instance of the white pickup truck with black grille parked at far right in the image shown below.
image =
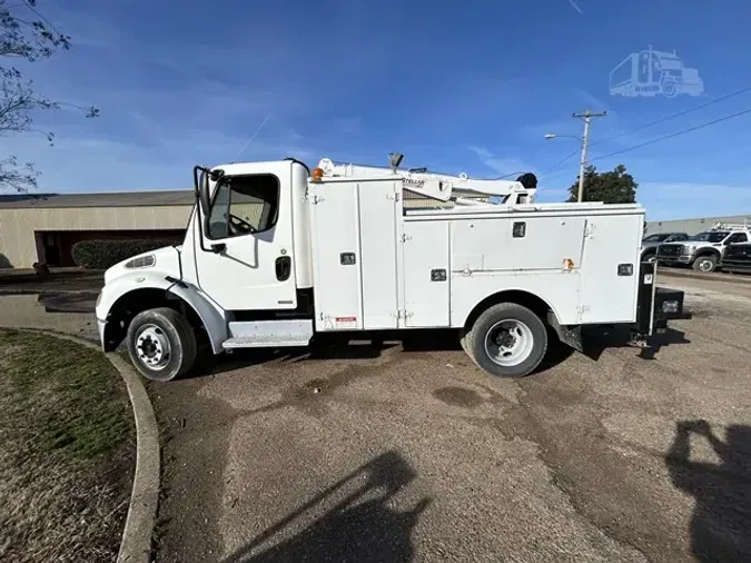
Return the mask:
M714 271L722 266L729 245L751 241L751 225L722 225L682 243L665 243L658 247L658 263L665 266L691 266L698 271Z

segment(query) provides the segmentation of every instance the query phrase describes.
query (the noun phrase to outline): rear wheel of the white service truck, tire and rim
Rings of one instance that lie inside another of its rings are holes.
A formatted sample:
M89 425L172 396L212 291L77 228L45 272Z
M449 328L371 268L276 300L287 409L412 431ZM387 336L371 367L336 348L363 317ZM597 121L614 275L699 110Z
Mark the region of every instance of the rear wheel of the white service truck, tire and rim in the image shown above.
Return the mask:
M488 374L523 377L545 356L547 330L526 307L501 303L477 317L463 344L470 357Z

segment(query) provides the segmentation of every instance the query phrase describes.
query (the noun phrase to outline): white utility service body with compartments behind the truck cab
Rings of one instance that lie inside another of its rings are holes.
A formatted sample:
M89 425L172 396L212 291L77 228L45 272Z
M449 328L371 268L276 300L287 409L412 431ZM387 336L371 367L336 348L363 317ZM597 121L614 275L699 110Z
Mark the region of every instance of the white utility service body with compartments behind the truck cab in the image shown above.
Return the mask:
M317 330L463 327L475 306L505 290L544 300L562 325L635 320L641 206L404 211L402 184L310 184ZM343 253L354 263L342 264ZM632 273L619 275L620 264Z

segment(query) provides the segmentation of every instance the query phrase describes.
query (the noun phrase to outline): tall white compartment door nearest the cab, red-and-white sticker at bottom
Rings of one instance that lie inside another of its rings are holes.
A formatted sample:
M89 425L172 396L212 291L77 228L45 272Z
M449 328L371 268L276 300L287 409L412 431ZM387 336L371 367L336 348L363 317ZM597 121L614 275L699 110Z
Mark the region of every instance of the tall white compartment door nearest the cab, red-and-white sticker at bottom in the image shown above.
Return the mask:
M316 330L355 330L360 315L357 185L310 186Z

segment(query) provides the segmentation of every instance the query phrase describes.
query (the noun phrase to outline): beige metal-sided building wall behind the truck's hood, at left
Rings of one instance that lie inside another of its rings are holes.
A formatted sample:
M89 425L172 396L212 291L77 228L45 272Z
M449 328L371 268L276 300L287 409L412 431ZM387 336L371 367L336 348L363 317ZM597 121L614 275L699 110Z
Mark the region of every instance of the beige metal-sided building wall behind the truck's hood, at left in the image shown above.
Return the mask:
M30 268L38 233L48 230L184 229L190 206L0 209L0 267Z

